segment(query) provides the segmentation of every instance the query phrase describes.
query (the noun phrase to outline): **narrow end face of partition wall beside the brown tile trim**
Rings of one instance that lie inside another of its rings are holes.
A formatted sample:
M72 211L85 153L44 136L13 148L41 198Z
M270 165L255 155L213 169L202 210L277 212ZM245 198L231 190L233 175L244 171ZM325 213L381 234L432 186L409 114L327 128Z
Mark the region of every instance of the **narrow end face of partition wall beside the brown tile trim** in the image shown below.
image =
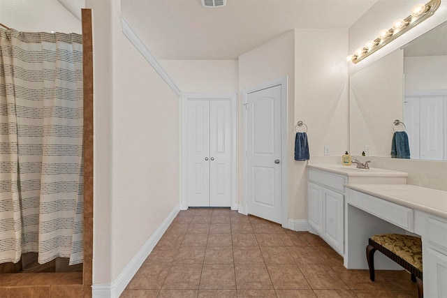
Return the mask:
M112 283L112 28L111 7L91 8L94 58L93 283ZM98 54L101 51L101 54Z

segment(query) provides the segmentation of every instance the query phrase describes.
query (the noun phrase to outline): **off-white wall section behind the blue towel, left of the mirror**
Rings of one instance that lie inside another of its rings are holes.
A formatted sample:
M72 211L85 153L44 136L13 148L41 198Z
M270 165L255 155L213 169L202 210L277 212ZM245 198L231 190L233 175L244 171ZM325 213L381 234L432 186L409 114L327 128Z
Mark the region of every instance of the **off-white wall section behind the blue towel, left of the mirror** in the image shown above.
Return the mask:
M348 66L346 29L295 29L295 116L307 124L310 161L324 154L342 156L348 150ZM293 131L293 133L295 133ZM292 136L295 140L295 137ZM307 218L307 168L292 161L289 215Z

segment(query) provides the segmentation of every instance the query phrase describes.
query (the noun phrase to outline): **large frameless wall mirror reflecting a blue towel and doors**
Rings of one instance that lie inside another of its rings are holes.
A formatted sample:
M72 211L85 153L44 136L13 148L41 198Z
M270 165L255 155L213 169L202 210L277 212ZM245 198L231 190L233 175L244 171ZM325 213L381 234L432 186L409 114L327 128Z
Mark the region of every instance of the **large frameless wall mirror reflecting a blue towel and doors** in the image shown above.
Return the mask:
M412 159L447 161L447 22L351 75L349 104L352 155L390 158L406 131Z

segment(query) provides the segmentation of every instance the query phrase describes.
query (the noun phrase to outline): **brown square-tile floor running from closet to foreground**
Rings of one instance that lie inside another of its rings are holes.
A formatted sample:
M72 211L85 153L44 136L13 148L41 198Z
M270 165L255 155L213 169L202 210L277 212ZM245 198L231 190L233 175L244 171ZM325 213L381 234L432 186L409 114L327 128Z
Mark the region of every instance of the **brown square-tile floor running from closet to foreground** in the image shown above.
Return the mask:
M366 246L366 244L365 244ZM406 271L347 270L309 232L229 209L180 211L122 293L129 297L417 297Z

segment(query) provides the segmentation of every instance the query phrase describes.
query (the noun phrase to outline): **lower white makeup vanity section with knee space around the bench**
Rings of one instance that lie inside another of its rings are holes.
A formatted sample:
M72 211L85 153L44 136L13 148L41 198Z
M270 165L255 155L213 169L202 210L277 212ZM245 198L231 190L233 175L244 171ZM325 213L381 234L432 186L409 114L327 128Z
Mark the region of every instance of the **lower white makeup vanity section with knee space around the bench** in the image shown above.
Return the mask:
M344 266L367 269L365 245L374 234L418 234L423 244L424 296L447 297L447 191L409 184L345 186ZM376 269L388 269L385 262L374 259Z

